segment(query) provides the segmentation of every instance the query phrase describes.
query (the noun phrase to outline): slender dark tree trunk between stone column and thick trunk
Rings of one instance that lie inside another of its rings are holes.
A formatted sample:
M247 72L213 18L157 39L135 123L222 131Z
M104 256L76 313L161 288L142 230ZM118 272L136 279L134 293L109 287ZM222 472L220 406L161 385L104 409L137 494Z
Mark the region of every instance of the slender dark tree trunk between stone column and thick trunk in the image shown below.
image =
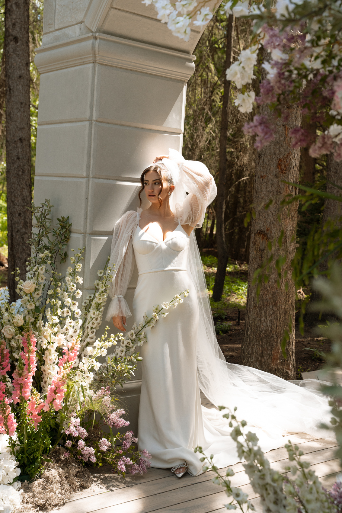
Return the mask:
M232 64L234 35L234 14L227 19L227 48L225 69ZM230 98L230 81L225 80L222 102L221 130L219 138L218 161L218 190L215 202L216 210L216 247L217 247L217 272L213 289L213 300L220 301L226 278L228 252L225 241L225 203L226 203L226 174L227 174L227 133L228 133L228 109Z

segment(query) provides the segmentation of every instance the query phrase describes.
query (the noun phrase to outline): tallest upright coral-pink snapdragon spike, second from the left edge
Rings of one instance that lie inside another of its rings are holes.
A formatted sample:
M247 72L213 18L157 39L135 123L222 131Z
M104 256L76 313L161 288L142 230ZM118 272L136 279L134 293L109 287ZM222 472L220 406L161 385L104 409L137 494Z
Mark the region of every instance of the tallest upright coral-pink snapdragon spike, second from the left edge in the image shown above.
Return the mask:
M32 376L37 368L35 357L37 339L32 331L24 333L22 337L23 351L19 354L19 360L13 372L12 400L18 403L21 399L28 401L31 395Z

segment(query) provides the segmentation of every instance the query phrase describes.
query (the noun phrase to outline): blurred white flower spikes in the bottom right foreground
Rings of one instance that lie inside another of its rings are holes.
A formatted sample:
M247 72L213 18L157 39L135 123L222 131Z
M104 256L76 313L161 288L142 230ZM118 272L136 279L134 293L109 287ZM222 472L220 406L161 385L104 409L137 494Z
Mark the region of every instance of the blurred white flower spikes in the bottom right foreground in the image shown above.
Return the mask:
M225 409L220 407L220 409ZM243 463L245 472L250 479L253 490L260 496L263 511L276 511L277 513L340 513L342 511L342 486L337 481L333 489L327 492L320 483L315 472L311 470L310 463L301 461L303 451L291 441L285 445L288 452L290 465L285 467L288 472L285 475L271 468L270 462L265 457L261 448L257 445L258 438L255 433L244 429L246 421L239 422L234 413L224 414L233 427L231 437L236 442L239 459ZM195 452L200 452L203 457L200 461L206 462L203 469L212 470L215 473L213 483L223 486L230 500L225 507L229 510L239 509L255 511L248 495L241 489L232 486L231 477L234 476L232 468L228 468L226 476L221 476L217 467L213 464L213 455L208 458L202 447L196 447Z

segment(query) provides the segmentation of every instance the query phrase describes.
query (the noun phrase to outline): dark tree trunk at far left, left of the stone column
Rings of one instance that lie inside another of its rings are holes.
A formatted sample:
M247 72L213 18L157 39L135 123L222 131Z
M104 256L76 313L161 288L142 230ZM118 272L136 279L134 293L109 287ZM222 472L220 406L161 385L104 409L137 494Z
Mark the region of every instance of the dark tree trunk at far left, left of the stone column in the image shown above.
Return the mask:
M15 276L26 275L32 230L29 0L5 1L6 177L8 216L8 288L17 298Z

